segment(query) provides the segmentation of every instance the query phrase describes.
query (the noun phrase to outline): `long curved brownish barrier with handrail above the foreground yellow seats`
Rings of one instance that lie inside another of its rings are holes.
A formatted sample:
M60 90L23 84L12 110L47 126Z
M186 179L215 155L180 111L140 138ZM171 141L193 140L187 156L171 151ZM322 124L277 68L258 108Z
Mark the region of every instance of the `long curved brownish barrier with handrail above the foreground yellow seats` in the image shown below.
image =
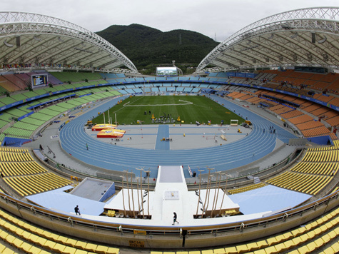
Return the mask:
M311 203L305 204L298 208L293 208L288 211L284 211L282 213L278 213L275 215L270 215L265 218L258 218L246 221L240 221L235 223L225 223L220 225L192 225L185 227L184 229L188 230L191 235L195 234L210 234L211 232L225 232L225 231L234 231L234 230L243 230L244 228L254 228L260 225L267 225L269 223L274 223L278 220L285 221L287 219L293 218L297 215L302 215L308 211L314 211L319 208L321 205L328 205L331 200L338 199L339 191L335 193L331 193L330 195L326 195L323 198L315 200ZM133 230L146 230L148 233L154 235L163 235L163 234L174 234L180 235L180 231L178 228L172 228L167 226L145 226L145 225L128 225L119 223L107 223L101 222L97 220L89 220L84 218L71 217L69 215L54 212L49 210L48 208L41 208L37 205L31 205L30 203L26 203L24 201L18 200L16 198L11 197L10 195L6 195L4 193L0 193L0 202L12 203L18 209L27 210L33 212L35 215L43 215L48 218L54 218L55 220L64 221L67 223L71 223L71 225L79 225L84 227L93 228L93 225L97 229L101 230L110 230L110 231L121 231L124 233L132 233ZM338 200L339 202L339 200ZM22 213L22 212L21 212ZM211 218L210 220L213 220Z

